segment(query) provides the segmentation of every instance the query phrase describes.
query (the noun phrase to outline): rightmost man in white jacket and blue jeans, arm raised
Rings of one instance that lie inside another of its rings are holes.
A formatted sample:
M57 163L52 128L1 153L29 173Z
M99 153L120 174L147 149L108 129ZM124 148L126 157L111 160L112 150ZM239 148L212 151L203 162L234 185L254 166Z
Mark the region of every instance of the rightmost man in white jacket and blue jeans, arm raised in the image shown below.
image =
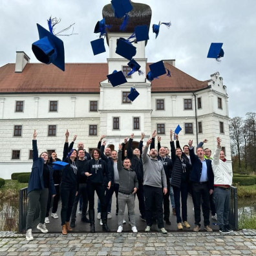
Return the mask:
M232 170L229 164L226 162L224 152L220 147L220 138L217 138L217 148L211 161L214 175L214 193L213 198L215 200L217 219L219 222L220 232L228 234L231 231L229 225L229 201L230 201L230 186L232 184Z

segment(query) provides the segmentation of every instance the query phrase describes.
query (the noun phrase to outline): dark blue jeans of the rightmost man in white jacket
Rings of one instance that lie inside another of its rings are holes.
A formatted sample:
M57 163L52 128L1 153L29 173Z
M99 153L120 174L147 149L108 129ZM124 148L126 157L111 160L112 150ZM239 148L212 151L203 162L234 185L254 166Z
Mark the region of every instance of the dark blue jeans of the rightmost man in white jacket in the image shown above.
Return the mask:
M229 217L230 191L229 189L222 189L222 187L215 187L213 192L213 198L215 200L219 227L222 228L224 225L229 224L228 217Z

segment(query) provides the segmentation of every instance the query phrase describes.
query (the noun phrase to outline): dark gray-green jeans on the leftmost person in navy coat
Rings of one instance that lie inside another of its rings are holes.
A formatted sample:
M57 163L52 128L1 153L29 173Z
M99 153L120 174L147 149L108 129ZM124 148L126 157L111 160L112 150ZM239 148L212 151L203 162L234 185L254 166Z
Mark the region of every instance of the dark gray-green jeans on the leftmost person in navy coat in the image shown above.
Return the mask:
M28 193L28 213L27 213L27 224L26 230L32 229L32 223L34 215L36 213L37 204L39 202L40 214L39 222L45 223L45 214L47 211L47 200L48 200L48 187L39 190L33 190Z

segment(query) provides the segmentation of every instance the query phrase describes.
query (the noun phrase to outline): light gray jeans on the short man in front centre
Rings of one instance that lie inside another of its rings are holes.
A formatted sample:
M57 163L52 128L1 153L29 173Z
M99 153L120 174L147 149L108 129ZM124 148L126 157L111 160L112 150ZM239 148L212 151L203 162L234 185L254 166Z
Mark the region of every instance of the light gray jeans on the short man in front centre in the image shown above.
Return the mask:
M118 193L118 226L123 226L123 213L125 211L125 205L127 204L129 219L131 226L136 226L135 213L134 213L134 194L125 195L123 193Z

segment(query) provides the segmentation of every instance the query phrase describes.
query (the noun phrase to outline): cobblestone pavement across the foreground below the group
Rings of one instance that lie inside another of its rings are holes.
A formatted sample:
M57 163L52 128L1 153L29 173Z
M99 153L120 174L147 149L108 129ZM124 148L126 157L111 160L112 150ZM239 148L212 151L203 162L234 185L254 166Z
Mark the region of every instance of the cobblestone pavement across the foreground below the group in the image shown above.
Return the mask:
M0 232L0 255L256 255L256 230L160 233Z

